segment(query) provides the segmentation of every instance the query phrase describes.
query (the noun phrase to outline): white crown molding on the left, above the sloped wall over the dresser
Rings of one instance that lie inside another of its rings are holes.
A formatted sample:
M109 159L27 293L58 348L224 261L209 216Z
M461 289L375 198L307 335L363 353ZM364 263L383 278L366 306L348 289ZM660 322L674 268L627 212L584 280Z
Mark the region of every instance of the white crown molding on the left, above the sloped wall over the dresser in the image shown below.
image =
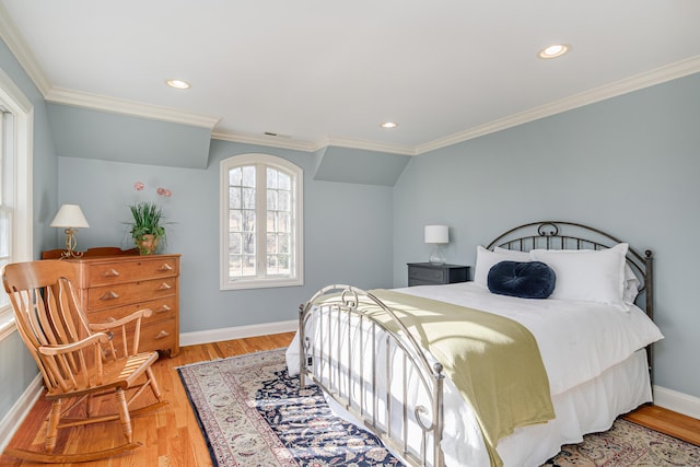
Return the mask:
M56 104L72 105L75 107L93 108L112 112L115 114L133 115L137 117L151 118L175 124L191 125L213 129L219 121L218 117L190 114L171 107L161 107L150 104L141 104L133 101L125 101L115 97L107 97L98 94L84 93L79 91L51 87L46 94L46 101Z

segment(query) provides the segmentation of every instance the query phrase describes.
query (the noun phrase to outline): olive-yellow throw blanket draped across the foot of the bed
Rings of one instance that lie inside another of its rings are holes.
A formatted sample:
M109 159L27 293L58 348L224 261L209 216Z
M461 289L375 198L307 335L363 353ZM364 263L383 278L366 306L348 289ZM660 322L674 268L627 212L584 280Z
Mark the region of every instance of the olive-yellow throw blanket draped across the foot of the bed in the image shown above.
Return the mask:
M491 465L503 465L495 451L499 440L515 428L555 418L537 341L520 323L389 290L370 293L442 363L476 413ZM389 326L389 319L380 320Z

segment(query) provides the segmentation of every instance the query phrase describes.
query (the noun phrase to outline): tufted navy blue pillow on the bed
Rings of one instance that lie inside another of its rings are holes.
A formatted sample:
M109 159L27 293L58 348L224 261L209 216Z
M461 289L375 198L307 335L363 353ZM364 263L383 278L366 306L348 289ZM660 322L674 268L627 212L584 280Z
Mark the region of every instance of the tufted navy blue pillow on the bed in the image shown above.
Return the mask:
M547 299L555 290L555 271L541 261L501 261L489 270L491 293L521 299Z

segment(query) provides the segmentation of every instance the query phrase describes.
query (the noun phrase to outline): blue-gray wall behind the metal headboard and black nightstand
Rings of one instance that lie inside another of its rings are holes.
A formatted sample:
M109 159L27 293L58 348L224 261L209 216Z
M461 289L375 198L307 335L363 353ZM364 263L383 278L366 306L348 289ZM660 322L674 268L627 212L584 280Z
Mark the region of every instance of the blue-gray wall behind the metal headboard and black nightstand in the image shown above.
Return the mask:
M450 262L526 222L588 224L655 254L655 384L700 397L700 74L412 157L394 189L394 283L451 226Z

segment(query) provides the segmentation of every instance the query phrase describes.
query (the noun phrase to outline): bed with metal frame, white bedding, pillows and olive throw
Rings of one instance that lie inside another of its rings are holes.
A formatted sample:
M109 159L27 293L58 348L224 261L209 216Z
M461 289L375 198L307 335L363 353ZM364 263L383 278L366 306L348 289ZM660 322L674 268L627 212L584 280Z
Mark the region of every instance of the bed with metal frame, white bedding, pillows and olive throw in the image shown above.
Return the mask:
M322 289L288 369L408 465L538 466L652 400L652 266L597 229L528 223L477 248L470 282Z

